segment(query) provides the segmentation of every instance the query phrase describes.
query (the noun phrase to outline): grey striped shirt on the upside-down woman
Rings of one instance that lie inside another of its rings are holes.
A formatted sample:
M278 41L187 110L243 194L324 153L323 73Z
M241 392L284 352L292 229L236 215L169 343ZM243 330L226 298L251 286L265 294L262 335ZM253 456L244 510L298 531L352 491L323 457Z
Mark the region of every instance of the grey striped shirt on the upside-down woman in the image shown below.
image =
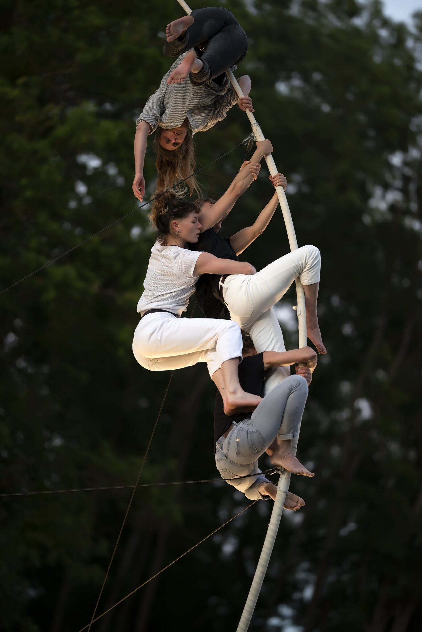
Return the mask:
M189 79L185 79L182 83L168 85L167 79L171 71L180 64L188 52L190 51L180 55L168 73L163 76L158 90L149 97L136 121L136 125L139 121L149 123L150 134L157 127L162 127L164 130L180 127L185 118L188 119L193 134L197 131L207 131L218 121L223 120L230 107L239 101L227 76L221 86L213 81L202 83L202 85L192 85Z

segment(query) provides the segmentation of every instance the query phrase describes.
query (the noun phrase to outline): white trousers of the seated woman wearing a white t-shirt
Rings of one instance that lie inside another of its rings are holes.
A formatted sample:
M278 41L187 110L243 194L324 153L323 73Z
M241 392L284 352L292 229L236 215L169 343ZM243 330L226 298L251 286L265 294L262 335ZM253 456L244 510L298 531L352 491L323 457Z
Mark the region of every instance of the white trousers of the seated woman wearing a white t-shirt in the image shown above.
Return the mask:
M139 321L133 355L150 371L169 371L206 362L209 375L232 358L242 360L242 334L230 320L177 318L166 312Z

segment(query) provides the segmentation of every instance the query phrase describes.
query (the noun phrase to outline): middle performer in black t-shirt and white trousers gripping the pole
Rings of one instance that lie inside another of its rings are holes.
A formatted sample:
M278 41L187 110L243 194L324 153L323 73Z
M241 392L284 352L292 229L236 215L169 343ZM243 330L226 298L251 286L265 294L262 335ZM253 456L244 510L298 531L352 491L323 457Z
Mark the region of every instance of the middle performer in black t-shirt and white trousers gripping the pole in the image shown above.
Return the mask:
M257 147L258 145L259 143ZM271 151L270 143L266 153ZM255 152L251 157L252 164L259 160L261 156ZM250 184L252 177L249 174L248 176ZM274 186L287 186L285 177L280 173L270 176L270 180ZM221 238L218 234L221 221L227 217L235 204L235 200L230 197L230 187L217 202L211 198L200 198L197 204L201 208L199 221L202 229L199 240L189 244L189 248L237 261L237 255L244 252L268 226L278 205L278 197L276 193L273 195L253 226L247 226L230 238ZM209 226L213 228L208 228ZM239 324L240 329L249 333L258 352L270 349L282 352L285 351L283 334L273 305L282 298L299 276L305 293L307 337L319 353L326 353L316 312L320 267L321 257L318 248L312 245L302 246L267 265L249 281L242 275L201 277L196 286L197 303L207 317L221 317L223 310L227 308L230 318ZM273 370L266 380L266 392L289 375L290 371L287 368L278 367Z

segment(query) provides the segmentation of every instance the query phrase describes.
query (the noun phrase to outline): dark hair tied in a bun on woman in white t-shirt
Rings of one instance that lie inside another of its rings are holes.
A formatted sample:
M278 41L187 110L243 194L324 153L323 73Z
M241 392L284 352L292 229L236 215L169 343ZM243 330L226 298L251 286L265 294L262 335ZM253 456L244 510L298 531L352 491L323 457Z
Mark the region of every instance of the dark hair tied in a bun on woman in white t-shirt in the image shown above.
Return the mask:
M199 213L199 206L189 202L176 191L157 189L154 197L159 196L152 203L149 219L156 228L156 239L160 243L170 234L170 224L175 219L183 219L190 213Z

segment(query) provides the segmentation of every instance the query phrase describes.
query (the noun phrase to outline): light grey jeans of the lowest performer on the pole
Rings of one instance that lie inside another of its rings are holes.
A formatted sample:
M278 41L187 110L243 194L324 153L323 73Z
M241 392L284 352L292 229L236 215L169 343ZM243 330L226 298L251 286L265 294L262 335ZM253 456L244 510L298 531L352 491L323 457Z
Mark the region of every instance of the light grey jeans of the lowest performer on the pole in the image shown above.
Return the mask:
M250 418L233 422L227 437L216 442L215 461L221 478L252 501L268 499L258 491L260 483L269 482L258 468L258 459L275 437L297 437L306 398L304 377L290 375L264 397Z

